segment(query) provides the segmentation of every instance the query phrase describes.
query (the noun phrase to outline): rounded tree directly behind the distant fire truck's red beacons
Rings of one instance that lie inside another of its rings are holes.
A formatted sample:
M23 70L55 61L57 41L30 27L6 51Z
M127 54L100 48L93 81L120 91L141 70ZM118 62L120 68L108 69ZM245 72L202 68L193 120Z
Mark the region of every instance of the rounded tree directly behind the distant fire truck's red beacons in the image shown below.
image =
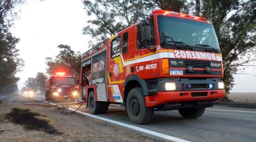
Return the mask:
M82 55L80 52L75 53L68 45L60 44L57 48L62 49L53 60L50 57L46 58L46 71L49 75L55 74L58 71L80 74Z

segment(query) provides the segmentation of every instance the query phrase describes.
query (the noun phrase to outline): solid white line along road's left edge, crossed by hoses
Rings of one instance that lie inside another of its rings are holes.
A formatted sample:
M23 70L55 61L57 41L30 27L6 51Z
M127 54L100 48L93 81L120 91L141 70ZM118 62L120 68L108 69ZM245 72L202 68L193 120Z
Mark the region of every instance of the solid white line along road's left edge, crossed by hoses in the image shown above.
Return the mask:
M33 97L31 97L31 98L33 98ZM36 99L36 98L33 98L33 99ZM36 100L41 101L40 99L36 99ZM44 101L44 102L47 102L47 101ZM56 105L54 103L49 103L49 104ZM68 109L72 110L72 111L75 110L75 109L72 109L72 108L68 108ZM151 131L151 130L148 130L148 129L140 128L140 127L137 127L137 126L133 126L133 125L125 124L125 123L118 122L118 121L115 121L115 120L103 118L103 117L92 115L92 114L89 114L89 113L85 113L85 112L82 112L82 111L79 111L79 110L77 110L76 112L80 113L80 114L83 114L83 115L93 117L93 118L97 118L97 119L100 119L100 120L103 120L103 121L107 121L107 122L110 122L110 123L121 125L121 126L130 128L130 129L141 131L141 132L144 132L144 133L147 133L147 134L150 134L150 135L154 135L154 136L157 136L157 137L160 137L160 138L171 140L171 141L174 141L174 142L190 142L190 141L187 141L187 140L183 140L183 139L176 138L176 137L173 137L173 136L165 135L165 134L158 133L158 132L155 132L155 131Z

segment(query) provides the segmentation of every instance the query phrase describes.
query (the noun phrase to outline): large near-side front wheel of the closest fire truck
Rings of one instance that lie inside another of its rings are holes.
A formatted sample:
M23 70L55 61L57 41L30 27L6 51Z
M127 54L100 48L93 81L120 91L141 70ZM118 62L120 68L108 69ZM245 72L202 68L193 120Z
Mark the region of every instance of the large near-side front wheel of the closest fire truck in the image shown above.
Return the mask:
M153 118L154 108L146 106L142 88L133 88L130 90L126 106L128 116L132 123L147 124Z

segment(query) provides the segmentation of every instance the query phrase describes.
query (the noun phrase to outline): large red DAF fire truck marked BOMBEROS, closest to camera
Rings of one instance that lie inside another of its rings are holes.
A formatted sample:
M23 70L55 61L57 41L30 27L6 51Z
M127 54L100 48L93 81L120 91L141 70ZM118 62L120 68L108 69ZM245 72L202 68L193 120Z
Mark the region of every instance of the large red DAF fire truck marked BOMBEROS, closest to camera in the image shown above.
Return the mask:
M200 117L224 97L218 40L205 18L155 10L83 54L82 93L92 114L123 104L133 123L154 111Z

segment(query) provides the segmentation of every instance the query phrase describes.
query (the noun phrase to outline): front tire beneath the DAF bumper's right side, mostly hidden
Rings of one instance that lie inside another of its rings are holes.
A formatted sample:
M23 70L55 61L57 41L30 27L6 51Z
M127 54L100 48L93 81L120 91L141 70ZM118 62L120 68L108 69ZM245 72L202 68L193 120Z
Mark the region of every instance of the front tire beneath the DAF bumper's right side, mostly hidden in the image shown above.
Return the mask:
M179 109L181 116L187 119L196 119L204 114L205 107Z

